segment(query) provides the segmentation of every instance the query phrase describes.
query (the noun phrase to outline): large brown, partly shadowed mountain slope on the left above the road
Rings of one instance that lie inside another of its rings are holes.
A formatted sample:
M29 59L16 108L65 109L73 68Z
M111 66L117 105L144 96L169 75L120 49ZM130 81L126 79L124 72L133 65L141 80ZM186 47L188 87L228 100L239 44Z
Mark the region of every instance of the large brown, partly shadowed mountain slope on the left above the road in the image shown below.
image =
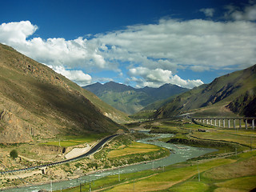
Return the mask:
M114 133L125 118L61 74L0 44L0 142ZM100 107L99 107L100 106Z

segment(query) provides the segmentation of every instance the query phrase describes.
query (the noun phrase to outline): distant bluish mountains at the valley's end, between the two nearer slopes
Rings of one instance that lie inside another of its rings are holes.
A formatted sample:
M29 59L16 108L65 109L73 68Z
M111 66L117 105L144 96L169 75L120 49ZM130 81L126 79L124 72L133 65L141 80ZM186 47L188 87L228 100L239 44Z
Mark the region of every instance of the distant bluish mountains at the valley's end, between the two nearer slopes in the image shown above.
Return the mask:
M117 82L106 82L105 84L96 82L89 86L83 86L83 88L90 90L102 101L126 114L134 114L154 102L182 94L188 90L172 84L165 84L158 88L146 86L135 89ZM147 108L155 110L158 105L150 105Z

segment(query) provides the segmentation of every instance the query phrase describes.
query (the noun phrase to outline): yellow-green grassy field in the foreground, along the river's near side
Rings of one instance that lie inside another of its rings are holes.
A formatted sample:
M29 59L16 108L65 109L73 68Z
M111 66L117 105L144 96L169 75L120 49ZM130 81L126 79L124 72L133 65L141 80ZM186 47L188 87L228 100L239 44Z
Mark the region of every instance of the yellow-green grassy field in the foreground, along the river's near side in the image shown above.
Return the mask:
M256 187L256 151L236 157L183 162L165 170L145 170L133 174L108 176L92 182L98 191L249 191ZM250 171L244 170L245 166ZM235 170L233 170L235 168ZM233 171L232 171L233 170ZM198 179L198 171L199 177ZM82 185L88 191L90 184ZM59 191L59 190L57 190ZM62 191L80 191L80 187Z

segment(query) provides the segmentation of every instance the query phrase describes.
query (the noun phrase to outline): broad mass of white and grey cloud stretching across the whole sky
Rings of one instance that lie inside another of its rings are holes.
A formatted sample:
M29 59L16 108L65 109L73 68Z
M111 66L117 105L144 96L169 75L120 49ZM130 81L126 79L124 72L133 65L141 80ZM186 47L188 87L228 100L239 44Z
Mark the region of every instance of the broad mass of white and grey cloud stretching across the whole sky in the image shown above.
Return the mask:
M193 88L203 82L180 78L179 69L242 69L256 63L256 24L252 22L256 6L226 9L225 17L231 20L225 22L161 19L155 24L95 34L90 39L42 39L33 37L38 26L30 21L2 23L0 42L52 66L79 85L94 82L88 74L92 71L113 70L126 74L127 83L136 82L140 87L173 83ZM201 11L209 17L214 14L211 9ZM77 68L82 70L74 70Z

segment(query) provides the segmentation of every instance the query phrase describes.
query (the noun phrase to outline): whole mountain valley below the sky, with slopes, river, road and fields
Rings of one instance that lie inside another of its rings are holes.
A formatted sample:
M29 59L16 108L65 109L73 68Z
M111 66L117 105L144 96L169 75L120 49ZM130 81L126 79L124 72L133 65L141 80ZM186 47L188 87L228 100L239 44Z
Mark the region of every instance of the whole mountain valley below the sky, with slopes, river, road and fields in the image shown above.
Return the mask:
M107 82L92 93L10 46L0 58L0 190L256 188L256 65L191 90Z

